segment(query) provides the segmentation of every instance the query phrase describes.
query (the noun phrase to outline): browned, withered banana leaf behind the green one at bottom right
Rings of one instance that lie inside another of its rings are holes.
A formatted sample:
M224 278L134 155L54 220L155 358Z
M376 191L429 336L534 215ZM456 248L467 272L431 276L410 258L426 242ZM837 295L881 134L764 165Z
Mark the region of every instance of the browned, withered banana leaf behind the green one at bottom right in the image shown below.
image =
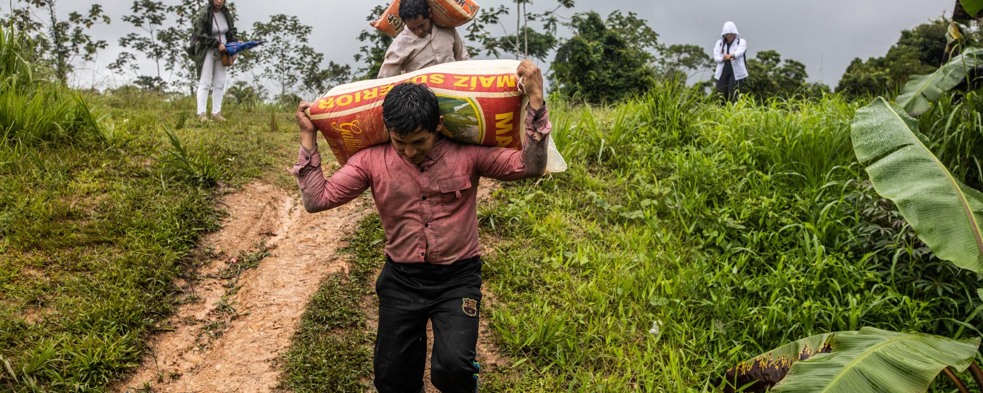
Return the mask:
M714 385L723 386L725 393L741 388L741 392L763 392L781 381L793 363L830 352L830 342L834 334L836 333L806 337L741 362L727 368L723 377L714 382Z

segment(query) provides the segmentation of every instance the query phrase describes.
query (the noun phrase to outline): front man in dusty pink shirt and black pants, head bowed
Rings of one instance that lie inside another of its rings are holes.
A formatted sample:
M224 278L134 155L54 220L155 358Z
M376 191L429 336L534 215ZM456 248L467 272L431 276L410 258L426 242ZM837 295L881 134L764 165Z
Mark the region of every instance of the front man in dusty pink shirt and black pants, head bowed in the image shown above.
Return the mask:
M385 265L376 281L378 331L374 367L379 393L418 393L434 326L431 380L441 392L474 392L482 300L476 200L479 178L514 181L543 175L549 116L543 75L524 60L525 147L462 143L441 133L443 116L426 84L397 84L382 102L390 142L359 150L326 181L317 130L301 102L297 176L309 212L340 206L372 188L385 232Z

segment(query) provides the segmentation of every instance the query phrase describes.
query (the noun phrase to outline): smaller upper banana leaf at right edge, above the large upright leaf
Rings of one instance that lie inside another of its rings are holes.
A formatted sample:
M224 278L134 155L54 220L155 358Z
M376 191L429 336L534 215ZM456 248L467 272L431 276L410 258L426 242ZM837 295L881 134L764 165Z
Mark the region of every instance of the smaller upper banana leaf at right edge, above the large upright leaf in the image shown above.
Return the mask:
M966 48L962 54L929 75L913 75L895 102L911 116L925 113L943 92L965 81L983 63L983 48Z

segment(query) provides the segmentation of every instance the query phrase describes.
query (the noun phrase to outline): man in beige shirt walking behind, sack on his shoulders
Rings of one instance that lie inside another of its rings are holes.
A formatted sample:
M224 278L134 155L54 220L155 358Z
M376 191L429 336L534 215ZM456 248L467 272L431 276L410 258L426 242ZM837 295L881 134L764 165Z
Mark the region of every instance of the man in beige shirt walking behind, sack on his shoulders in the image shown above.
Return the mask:
M471 58L457 29L434 26L427 0L401 0L399 18L406 27L385 51L378 78Z

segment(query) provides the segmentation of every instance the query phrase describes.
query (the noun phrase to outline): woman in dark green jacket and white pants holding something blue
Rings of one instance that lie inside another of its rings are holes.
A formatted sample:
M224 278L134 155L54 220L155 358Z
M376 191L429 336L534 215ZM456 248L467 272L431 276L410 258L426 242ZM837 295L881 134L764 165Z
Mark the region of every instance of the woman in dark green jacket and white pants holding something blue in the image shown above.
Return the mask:
M220 122L222 116L222 96L225 95L225 77L228 67L222 65L220 52L225 51L225 43L236 41L235 21L229 14L225 0L211 0L195 17L194 44L189 48L198 70L198 119L208 121L205 110L208 104L208 90L211 89L211 118ZM242 42L242 41L238 41Z

